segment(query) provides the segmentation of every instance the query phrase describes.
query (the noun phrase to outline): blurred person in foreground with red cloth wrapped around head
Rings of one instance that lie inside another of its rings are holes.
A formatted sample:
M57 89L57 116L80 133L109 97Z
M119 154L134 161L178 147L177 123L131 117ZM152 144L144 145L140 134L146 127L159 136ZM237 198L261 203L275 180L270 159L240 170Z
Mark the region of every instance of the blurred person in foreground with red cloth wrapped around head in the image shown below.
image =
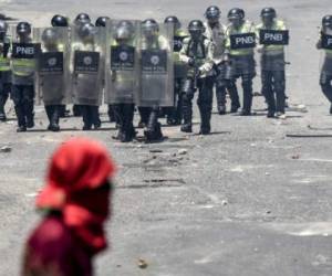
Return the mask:
M115 166L96 141L75 138L53 155L48 182L37 198L44 213L29 237L22 275L92 276L92 258L106 248Z

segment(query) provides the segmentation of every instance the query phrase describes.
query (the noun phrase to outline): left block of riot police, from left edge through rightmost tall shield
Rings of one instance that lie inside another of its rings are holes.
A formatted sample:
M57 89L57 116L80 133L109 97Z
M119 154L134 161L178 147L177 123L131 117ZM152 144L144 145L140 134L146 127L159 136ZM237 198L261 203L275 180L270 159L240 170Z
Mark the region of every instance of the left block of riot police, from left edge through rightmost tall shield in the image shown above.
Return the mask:
M142 112L146 139L163 138L158 112L174 105L173 24L100 18L94 25L82 13L72 25L61 15L49 28L32 29L20 22L10 35L7 23L1 23L0 65L11 74L8 82L2 74L1 84L10 86L18 131L34 126L34 99L45 106L49 130L60 130L65 104L73 104L74 113L83 117L83 130L98 129L104 100L118 126L117 139L135 138L135 105Z

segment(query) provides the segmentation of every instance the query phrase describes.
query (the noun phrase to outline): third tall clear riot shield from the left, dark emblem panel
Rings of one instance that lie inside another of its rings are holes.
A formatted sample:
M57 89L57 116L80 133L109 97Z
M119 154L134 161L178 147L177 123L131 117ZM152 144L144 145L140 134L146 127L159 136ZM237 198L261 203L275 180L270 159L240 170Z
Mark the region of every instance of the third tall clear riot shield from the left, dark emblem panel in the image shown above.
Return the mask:
M139 21L111 20L106 32L105 103L136 103Z

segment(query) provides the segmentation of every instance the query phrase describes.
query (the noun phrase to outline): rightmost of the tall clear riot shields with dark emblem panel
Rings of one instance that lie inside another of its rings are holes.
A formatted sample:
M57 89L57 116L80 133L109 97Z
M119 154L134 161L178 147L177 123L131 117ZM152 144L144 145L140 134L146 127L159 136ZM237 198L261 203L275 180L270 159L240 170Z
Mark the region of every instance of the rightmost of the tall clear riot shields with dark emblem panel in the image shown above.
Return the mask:
M174 106L173 26L160 24L151 35L141 28L139 106Z

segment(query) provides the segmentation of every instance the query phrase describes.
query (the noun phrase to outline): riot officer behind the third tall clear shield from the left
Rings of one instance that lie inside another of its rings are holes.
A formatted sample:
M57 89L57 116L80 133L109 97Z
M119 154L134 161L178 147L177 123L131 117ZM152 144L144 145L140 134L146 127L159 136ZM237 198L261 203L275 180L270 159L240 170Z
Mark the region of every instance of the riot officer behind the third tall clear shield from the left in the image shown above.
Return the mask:
M132 141L136 137L134 129L135 99L138 94L138 22L122 20L112 21L111 63L106 67L105 96L112 103L118 132L115 139L122 142ZM108 44L107 44L108 46Z

